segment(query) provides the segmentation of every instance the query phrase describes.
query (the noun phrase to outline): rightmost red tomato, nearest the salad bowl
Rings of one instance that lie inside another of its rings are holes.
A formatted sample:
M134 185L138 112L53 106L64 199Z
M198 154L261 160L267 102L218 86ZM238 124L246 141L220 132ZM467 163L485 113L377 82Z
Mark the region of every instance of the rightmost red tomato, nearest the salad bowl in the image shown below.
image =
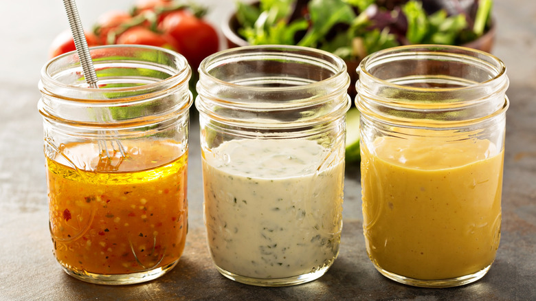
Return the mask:
M175 38L192 69L197 69L203 58L217 52L219 37L214 27L187 10L170 12L159 28Z

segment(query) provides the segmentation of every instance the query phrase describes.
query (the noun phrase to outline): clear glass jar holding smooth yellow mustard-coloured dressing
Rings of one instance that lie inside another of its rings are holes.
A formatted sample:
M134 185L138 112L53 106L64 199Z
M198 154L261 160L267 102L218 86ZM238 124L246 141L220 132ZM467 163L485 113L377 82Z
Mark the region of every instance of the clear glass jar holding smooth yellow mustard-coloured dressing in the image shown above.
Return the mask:
M500 241L506 67L474 49L416 45L371 54L357 71L372 263L418 287L482 278Z

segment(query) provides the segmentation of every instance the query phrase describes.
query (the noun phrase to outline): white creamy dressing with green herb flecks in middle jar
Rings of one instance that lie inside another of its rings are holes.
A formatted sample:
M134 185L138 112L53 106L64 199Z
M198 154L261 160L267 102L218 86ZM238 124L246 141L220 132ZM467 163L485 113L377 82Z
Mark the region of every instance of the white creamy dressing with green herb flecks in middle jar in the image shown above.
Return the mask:
M291 139L232 140L203 157L208 245L219 268L276 279L333 263L342 230L342 156Z

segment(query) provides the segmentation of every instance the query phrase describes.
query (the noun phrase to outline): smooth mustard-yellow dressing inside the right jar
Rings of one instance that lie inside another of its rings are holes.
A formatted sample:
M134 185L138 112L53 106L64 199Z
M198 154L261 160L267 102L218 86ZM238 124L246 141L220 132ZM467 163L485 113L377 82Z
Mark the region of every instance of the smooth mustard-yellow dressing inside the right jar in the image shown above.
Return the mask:
M366 248L379 269L440 280L493 263L503 151L489 140L378 137L361 157Z

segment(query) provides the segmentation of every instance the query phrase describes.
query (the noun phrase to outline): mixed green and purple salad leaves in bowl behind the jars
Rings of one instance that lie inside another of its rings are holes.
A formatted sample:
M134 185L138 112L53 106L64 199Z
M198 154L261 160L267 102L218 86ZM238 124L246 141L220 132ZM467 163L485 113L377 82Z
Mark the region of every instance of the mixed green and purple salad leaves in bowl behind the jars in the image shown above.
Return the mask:
M397 45L460 45L489 27L493 0L473 0L456 13L447 11L446 2L260 0L237 2L236 19L238 34L249 44L315 47L359 60Z

